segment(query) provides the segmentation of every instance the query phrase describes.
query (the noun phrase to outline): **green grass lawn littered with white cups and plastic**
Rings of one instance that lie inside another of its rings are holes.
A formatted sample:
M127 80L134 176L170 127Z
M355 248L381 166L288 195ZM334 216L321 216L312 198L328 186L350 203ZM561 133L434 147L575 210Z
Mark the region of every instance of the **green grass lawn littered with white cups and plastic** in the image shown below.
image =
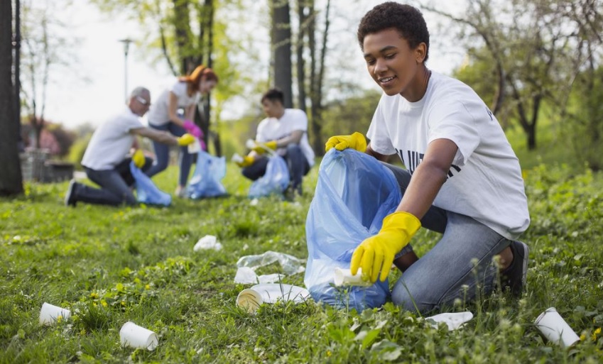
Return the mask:
M249 287L233 282L241 256L276 250L307 258L304 223L316 177L314 168L295 204L251 206L249 182L232 165L224 180L230 197L175 199L169 208L66 208L66 183L27 184L25 197L0 199L0 363L601 362L602 175L526 170L526 293L518 302L495 294L457 307L475 317L452 332L392 304L362 314L311 300L264 304L256 315L236 307ZM175 168L156 180L168 192L175 181ZM207 234L224 248L193 252ZM420 231L419 255L437 239ZM265 273L278 271L271 268ZM303 286L303 275L284 282ZM72 319L40 326L43 302L71 309ZM569 351L533 326L552 306L585 338ZM126 321L158 333L158 348L122 348Z

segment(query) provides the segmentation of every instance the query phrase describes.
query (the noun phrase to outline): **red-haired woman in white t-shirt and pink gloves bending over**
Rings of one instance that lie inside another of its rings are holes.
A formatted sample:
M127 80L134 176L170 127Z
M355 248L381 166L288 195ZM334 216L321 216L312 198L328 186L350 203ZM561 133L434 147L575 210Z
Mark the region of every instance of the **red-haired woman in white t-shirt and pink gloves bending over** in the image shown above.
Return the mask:
M203 65L195 68L188 76L179 77L171 87L165 89L158 100L151 106L148 112L148 126L161 131L169 131L174 136L183 136L190 133L202 142L203 133L201 129L192 122L202 94L209 94L216 87L218 77L211 68ZM146 175L152 177L165 170L169 162L169 146L153 142L155 148L156 162L149 168ZM186 182L192 164L192 154L187 148L180 148L180 177L175 194L183 197Z

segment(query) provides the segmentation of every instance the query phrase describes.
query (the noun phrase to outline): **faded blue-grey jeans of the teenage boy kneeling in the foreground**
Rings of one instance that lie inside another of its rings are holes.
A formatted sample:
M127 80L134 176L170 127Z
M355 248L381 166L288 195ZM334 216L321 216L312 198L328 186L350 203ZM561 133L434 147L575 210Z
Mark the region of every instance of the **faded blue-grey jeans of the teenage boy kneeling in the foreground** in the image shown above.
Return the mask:
M396 176L404 194L411 174L399 167L384 165ZM450 307L456 299L471 301L478 294L492 292L499 273L492 258L509 246L509 239L469 216L435 206L423 216L421 224L442 233L442 238L393 286L394 304L425 313ZM411 250L409 244L396 256Z

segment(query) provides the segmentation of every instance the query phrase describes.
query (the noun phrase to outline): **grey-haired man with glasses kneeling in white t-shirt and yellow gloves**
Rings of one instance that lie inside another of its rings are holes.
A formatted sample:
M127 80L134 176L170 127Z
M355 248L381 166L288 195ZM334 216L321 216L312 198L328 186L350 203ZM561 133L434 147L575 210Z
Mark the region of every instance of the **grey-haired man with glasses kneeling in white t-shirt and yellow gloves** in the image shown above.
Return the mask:
M130 94L126 109L109 118L94 131L82 158L82 166L89 180L101 188L89 187L72 180L65 195L65 205L76 206L77 202L113 206L136 204L136 197L131 189L134 177L130 172L130 162L134 160L137 167L146 170L151 167L152 160L145 158L142 150L136 150L134 155L128 156L135 136L170 145L188 145L194 141L190 134L175 138L165 131L143 126L140 118L149 106L151 93L144 87L136 87Z

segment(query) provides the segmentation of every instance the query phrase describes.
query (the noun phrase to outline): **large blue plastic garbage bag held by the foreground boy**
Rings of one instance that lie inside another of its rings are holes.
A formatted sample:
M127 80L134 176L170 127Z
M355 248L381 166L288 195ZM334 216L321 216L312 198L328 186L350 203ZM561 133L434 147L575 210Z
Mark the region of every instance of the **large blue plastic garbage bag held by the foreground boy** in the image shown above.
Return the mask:
M362 311L389 298L388 281L335 287L335 268L349 269L354 249L381 229L401 201L396 177L375 158L333 148L322 159L305 223L308 264L304 283L316 302Z

